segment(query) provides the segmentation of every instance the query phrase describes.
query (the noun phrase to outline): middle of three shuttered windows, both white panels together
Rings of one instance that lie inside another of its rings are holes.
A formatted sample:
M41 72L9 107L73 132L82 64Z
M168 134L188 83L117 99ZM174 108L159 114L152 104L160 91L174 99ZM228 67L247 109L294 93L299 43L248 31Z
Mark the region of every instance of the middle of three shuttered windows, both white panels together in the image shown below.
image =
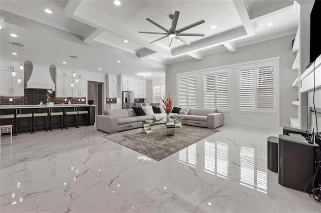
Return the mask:
M204 79L204 107L228 109L228 72L206 74Z

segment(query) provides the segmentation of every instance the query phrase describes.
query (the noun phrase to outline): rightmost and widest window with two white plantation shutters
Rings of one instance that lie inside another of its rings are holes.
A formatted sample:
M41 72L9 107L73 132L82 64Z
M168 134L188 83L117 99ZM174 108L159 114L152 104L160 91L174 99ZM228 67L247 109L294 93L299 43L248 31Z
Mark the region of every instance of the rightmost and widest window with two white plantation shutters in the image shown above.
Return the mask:
M239 108L244 111L275 110L274 66L255 66L239 72Z

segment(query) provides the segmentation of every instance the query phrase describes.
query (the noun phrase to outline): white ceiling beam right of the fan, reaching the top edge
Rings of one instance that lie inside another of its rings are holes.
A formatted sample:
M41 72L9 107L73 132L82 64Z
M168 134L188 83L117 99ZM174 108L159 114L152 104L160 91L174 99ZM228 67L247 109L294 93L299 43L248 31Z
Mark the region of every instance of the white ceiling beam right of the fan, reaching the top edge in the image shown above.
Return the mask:
M232 0L234 3L234 6L236 8L236 11L238 12L240 19L243 23L243 26L246 30L246 33L248 35L254 35L255 30L252 25L252 22L250 21L250 17L246 8L246 2L245 0Z

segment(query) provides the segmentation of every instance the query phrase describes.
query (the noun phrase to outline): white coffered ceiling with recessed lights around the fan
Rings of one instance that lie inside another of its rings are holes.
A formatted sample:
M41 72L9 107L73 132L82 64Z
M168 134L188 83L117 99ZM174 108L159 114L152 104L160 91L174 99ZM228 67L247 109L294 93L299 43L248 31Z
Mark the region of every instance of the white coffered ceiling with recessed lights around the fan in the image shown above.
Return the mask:
M293 0L120 2L117 6L113 0L0 0L0 15L6 22L6 28L0 30L1 55L12 57L9 44L15 39L9 34L19 31L26 36L18 37L25 42L24 50L34 57L28 59L61 63L68 55L79 54L83 56L80 65L86 69L99 66L116 73L148 70L159 76L167 63L191 57L199 60L217 51L234 52L238 46L292 34L298 25ZM45 8L52 14L44 12ZM180 11L178 28L204 19L205 23L185 32L205 36L185 36L190 45L174 39L168 47L168 38L149 43L162 35L138 33L162 32L147 17L170 28L169 15L175 10ZM115 63L117 60L121 63Z

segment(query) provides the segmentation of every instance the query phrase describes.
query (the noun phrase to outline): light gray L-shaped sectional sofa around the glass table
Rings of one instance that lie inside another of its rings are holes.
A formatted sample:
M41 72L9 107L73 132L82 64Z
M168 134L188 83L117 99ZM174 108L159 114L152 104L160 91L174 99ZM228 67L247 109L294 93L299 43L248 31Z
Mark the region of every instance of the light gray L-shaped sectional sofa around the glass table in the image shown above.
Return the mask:
M190 108L188 114L171 113L171 117L183 117L183 124L216 128L223 125L223 114L212 108ZM166 113L136 116L133 109L105 110L97 115L96 127L99 130L113 133L142 127L142 122L149 119L165 118Z

